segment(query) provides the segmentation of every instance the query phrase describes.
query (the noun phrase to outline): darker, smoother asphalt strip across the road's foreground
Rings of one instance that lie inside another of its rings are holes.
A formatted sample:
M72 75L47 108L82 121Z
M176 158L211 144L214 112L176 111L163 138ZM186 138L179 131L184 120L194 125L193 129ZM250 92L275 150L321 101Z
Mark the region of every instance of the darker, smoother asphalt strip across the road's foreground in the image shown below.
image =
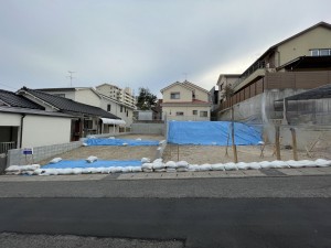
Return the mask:
M2 198L0 231L331 247L330 198Z

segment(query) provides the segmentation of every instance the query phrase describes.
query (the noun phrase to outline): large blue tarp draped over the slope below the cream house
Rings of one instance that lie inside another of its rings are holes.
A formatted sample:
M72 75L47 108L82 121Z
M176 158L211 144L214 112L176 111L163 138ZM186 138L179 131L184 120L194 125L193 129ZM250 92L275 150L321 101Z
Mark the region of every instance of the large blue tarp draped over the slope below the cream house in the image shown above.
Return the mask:
M252 126L234 122L234 130L235 144L261 141L261 132ZM229 121L169 121L169 143L226 145L228 137L228 144L232 144Z

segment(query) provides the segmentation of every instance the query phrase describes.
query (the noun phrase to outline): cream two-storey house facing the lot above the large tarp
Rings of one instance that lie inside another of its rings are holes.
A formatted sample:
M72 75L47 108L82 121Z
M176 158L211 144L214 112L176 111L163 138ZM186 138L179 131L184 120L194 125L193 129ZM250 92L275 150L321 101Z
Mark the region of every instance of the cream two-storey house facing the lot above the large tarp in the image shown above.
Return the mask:
M163 120L210 120L210 93L188 80L161 89Z

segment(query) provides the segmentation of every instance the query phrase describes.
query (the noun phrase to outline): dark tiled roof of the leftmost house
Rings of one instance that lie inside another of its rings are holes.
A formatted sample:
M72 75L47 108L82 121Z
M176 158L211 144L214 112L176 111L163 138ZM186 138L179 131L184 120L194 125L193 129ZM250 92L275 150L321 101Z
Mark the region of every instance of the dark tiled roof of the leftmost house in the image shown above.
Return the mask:
M26 99L23 96L3 89L0 89L0 101L3 101L10 107L44 109L42 106Z

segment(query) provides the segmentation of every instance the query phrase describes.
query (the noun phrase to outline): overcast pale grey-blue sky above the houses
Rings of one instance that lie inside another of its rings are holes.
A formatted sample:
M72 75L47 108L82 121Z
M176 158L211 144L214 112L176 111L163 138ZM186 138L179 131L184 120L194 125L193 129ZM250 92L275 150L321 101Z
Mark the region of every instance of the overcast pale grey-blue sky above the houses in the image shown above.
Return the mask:
M0 88L211 89L320 22L330 0L0 0Z

